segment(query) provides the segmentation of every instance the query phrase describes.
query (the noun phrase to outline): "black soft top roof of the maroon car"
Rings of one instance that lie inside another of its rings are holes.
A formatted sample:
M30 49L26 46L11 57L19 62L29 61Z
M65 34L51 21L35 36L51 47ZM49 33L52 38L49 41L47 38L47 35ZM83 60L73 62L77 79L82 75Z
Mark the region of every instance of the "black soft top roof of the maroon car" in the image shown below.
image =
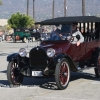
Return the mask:
M41 22L36 22L35 24L57 25L57 24L85 23L85 22L100 22L100 18L96 16L58 17L58 18L44 20Z

